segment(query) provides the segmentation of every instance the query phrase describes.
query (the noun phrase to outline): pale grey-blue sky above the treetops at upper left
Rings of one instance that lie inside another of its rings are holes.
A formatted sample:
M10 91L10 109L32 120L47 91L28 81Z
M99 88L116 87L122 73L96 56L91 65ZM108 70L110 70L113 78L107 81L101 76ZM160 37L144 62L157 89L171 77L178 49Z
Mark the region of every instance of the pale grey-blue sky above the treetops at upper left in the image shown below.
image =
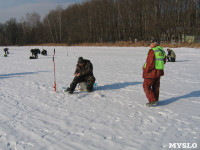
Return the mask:
M17 21L25 17L26 13L37 12L41 19L49 13L50 10L56 9L57 6L66 8L73 3L81 3L84 0L0 0L0 23L5 23L11 18Z

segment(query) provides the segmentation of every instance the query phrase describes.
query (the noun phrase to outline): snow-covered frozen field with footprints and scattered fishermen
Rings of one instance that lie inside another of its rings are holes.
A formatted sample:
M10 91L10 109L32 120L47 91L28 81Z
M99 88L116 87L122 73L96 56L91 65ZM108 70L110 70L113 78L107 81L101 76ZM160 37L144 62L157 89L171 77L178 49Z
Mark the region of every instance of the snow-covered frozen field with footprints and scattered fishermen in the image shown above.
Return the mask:
M56 93L54 47L9 47L8 57L0 48L0 150L200 150L200 49L173 49L160 102L146 107L148 47L55 47ZM31 60L32 48L48 55ZM97 90L63 93L80 56L93 63Z

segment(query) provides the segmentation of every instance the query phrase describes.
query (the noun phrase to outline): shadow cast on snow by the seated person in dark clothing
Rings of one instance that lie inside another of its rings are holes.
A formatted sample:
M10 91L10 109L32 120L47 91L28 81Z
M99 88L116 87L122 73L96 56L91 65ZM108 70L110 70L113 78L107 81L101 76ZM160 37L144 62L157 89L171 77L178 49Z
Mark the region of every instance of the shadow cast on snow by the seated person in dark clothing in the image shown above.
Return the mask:
M117 90L117 89L125 88L127 86L138 85L138 84L142 84L142 82L114 83L114 84L99 86L98 89L99 90Z

